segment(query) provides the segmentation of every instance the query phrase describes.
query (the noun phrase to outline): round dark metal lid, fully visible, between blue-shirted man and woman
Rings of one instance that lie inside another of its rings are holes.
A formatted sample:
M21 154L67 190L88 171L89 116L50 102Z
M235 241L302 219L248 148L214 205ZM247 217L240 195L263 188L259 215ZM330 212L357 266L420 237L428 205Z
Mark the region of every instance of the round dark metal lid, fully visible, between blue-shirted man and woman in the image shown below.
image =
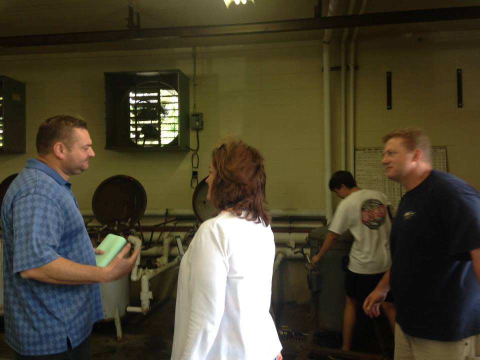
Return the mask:
M111 176L96 188L91 207L101 224L126 230L133 227L145 212L145 189L131 176Z

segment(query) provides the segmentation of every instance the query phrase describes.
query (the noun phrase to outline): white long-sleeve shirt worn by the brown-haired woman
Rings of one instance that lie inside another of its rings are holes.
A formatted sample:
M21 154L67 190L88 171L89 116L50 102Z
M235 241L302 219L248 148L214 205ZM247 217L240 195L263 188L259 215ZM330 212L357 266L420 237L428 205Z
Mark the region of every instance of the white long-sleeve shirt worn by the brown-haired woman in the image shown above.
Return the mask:
M222 212L204 221L178 274L171 360L271 360L270 226Z

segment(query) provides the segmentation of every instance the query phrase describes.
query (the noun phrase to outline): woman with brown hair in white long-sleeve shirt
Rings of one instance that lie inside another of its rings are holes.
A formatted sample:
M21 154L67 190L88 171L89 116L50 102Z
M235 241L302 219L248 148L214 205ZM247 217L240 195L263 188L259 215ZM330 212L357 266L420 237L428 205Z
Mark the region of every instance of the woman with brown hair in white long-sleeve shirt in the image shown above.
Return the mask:
M241 141L224 143L206 182L219 213L200 225L180 263L171 359L281 359L268 311L275 244L263 157Z

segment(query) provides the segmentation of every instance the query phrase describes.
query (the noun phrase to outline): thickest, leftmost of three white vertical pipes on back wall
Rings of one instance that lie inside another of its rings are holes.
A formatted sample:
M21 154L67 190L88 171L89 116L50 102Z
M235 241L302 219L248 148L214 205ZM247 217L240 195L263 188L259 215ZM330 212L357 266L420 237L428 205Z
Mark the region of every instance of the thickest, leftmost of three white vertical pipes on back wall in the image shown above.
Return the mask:
M338 0L330 0L328 3L327 16L334 14ZM331 128L330 128L330 41L331 29L325 29L323 33L323 146L325 154L325 217L330 222L332 216L332 205L328 181L331 176Z

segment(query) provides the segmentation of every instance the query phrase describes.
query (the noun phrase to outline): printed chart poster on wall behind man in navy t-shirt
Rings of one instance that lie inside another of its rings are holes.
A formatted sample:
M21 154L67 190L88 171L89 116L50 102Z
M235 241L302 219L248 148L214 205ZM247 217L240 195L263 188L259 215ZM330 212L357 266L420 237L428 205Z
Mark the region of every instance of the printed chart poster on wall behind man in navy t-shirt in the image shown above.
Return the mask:
M355 149L355 180L359 187L383 192L391 201L393 214L398 208L405 189L396 181L390 180L381 163L383 147L363 147ZM433 146L431 153L433 168L447 171L446 146Z

